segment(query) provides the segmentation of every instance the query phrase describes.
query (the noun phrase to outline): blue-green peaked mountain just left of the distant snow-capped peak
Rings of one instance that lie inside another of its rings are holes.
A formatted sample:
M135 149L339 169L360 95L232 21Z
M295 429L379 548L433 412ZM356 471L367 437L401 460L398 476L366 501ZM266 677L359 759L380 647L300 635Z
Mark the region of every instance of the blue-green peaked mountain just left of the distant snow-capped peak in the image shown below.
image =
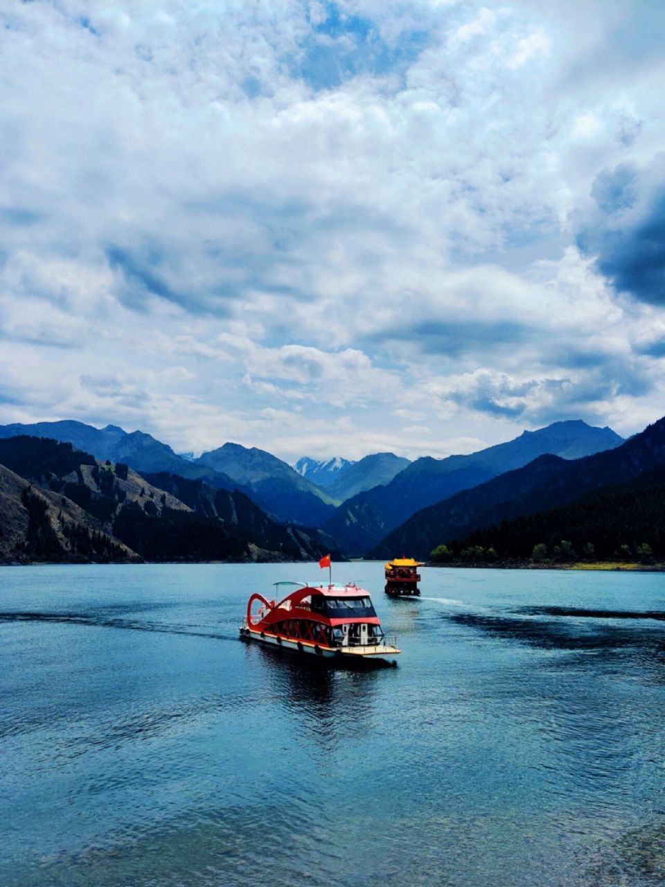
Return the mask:
M217 450L204 452L196 464L244 484L255 502L283 521L316 526L330 517L338 504L286 462L256 447L224 443Z

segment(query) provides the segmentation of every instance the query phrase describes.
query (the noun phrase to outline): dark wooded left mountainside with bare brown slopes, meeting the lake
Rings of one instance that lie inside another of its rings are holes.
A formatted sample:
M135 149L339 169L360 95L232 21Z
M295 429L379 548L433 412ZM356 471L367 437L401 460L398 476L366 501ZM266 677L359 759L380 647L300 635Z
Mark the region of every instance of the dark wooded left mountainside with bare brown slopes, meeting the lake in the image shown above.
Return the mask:
M240 491L148 480L70 443L0 440L0 562L340 559L331 542L272 520Z

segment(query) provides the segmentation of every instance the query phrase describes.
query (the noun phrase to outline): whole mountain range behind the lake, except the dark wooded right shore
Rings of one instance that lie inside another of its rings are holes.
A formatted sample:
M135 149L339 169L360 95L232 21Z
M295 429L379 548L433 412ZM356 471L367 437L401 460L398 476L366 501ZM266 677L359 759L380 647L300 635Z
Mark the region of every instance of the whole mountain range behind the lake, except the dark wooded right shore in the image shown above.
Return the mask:
M113 425L4 426L0 560L426 557L442 543L468 542L495 524L630 482L662 458L658 428L622 442L610 428L555 422L465 456L410 463L375 453L357 462L328 460L327 467L303 458L295 470L238 443L194 459ZM26 429L43 437L17 436ZM327 490L306 476L317 473L326 475ZM549 527L551 541L556 521L544 521L536 529ZM506 530L508 548L516 532Z

